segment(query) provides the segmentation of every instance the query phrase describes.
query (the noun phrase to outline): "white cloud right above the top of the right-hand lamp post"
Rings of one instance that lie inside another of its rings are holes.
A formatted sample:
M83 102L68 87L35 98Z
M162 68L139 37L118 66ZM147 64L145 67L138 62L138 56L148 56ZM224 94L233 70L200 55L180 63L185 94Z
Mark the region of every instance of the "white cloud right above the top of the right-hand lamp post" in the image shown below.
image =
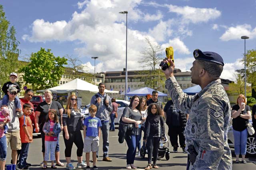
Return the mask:
M236 27L232 26L227 28L220 39L222 41L237 40L241 39L241 36L244 35L249 36L250 38L256 37L256 28L252 30L252 27L249 24L237 25Z

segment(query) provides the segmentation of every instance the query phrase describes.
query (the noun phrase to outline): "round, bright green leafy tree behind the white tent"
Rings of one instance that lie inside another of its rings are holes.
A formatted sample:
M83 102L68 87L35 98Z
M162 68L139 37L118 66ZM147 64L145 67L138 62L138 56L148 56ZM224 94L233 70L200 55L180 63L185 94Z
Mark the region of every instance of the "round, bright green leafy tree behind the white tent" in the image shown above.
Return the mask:
M20 68L19 72L24 73L23 79L26 84L31 84L33 90L42 90L58 85L67 59L55 57L51 50L41 48L38 52L32 53L30 63Z

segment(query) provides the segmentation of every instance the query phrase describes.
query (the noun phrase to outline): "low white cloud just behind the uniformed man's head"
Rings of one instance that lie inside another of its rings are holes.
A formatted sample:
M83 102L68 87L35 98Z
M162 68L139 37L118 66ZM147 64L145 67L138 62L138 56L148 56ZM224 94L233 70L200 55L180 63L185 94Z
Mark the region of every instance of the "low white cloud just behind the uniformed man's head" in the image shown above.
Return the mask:
M238 58L234 63L224 63L223 71L220 78L235 81L235 71L244 67L241 60L242 58Z

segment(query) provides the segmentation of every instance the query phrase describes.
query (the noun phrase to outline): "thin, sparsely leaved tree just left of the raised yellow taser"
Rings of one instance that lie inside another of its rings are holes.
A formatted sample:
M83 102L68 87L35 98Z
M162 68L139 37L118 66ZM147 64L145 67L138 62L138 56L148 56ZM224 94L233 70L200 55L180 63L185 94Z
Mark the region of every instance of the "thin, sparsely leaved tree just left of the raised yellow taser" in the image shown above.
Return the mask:
M163 72L159 72L158 66L160 64L163 49L160 45L150 41L149 38L145 39L147 47L142 50L142 58L138 62L146 70L139 72L139 74L145 75L141 76L140 79L145 83L145 86L153 89L159 89L163 84L162 77L164 77Z

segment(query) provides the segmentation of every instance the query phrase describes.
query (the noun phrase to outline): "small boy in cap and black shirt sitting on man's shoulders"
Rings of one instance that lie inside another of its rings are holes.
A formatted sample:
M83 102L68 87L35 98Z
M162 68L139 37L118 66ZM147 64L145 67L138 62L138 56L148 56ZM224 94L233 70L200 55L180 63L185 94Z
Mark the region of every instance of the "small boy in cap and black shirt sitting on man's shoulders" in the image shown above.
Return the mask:
M2 103L3 107L4 107L4 106L7 106L7 102L8 102L7 91L8 91L8 88L10 88L10 87L12 86L12 87L15 87L15 88L17 89L17 93L20 92L20 86L19 86L19 84L16 82L17 79L18 79L17 76L18 76L17 73L12 72L12 73L10 74L10 82L4 83L4 86L2 87L2 90L3 90L4 94L5 94L5 95L4 95L4 98L3 98L3 103ZM18 98L18 96L16 96L14 102L15 102L16 108L21 108L20 99Z

